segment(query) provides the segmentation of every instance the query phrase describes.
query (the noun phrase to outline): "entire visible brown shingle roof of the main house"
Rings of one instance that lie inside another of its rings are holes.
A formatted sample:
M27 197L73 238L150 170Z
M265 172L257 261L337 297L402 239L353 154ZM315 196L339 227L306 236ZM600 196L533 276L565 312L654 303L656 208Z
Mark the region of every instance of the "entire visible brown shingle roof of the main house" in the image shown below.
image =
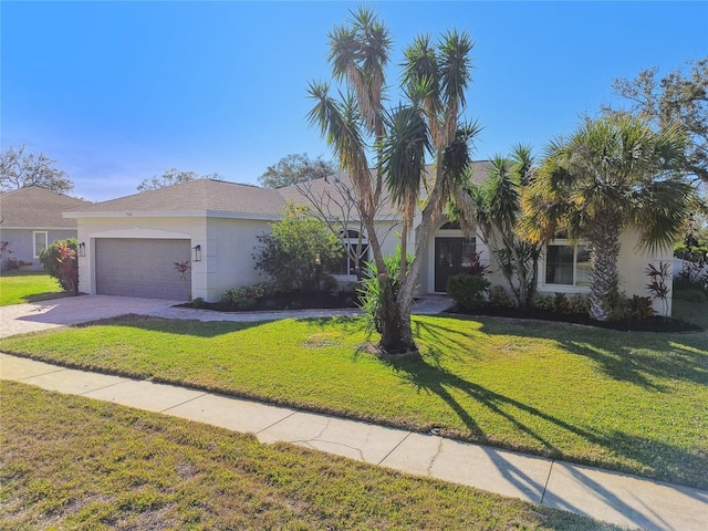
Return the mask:
M473 179L486 176L483 169L488 162L473 163ZM430 175L428 176L430 178ZM201 178L174 186L166 186L154 190L142 191L132 196L111 199L108 201L91 204L74 211L66 212L67 217L112 217L116 212L146 215L210 215L233 216L253 219L278 219L285 205L308 205L309 200L300 191L305 188L314 198L325 200L330 195L335 202L343 202L342 190L348 183L346 171L326 179L314 179L303 185L284 188L260 188L252 185L240 185L226 180ZM344 187L339 186L344 184ZM334 212L337 210L334 209ZM382 217L389 217L395 210L386 201L378 211Z

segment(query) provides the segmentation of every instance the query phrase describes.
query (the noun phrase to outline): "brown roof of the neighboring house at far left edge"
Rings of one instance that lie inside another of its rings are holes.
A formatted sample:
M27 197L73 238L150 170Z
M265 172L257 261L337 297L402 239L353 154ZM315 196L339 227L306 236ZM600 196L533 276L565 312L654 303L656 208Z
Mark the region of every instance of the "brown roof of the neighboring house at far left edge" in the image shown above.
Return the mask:
M0 194L0 228L3 229L75 229L76 221L62 212L91 205L40 186L28 186Z

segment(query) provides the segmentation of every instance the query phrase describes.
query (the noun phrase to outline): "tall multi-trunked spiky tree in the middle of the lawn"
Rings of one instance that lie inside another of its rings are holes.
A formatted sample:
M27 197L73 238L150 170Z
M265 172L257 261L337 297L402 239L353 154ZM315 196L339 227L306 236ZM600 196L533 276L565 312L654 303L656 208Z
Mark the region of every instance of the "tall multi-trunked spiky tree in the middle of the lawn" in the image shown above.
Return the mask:
M366 8L352 12L347 27L330 32L332 74L336 81L346 82L347 90L335 100L330 95L330 83L311 82L309 93L315 104L309 118L327 139L340 166L348 171L381 282L379 347L393 354L416 350L410 309L424 260L407 260L414 211L420 209L415 243L415 256L419 257L425 252L431 222L440 216L471 162L470 144L479 129L475 124L459 123L471 81L469 53L473 43L469 37L450 31L435 44L428 37L415 39L405 50L403 63L402 90L407 101L386 111L385 67L392 46L388 35L387 28ZM368 153L375 156L373 165ZM435 163L429 176L427 154ZM424 186L427 197L419 200ZM403 217L397 290L392 285L376 232L375 212L386 198L384 187Z

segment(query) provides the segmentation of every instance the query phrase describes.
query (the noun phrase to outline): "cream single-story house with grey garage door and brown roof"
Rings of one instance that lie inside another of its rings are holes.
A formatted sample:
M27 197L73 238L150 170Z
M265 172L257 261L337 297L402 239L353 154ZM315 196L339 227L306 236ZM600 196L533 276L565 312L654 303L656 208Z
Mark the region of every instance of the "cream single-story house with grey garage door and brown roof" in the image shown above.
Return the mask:
M486 163L476 163L480 170ZM312 197L337 198L337 179L317 179L308 184ZM339 195L339 202L342 196ZM75 219L79 241L80 290L92 294L116 294L186 300L202 298L219 301L235 287L260 282L254 269L257 237L270 231L290 201L309 205L296 186L266 189L214 179L144 191L128 197L98 202L65 212ZM333 214L337 214L336 209ZM352 215L352 212L350 212ZM353 216L354 218L355 216ZM357 239L357 227L342 232L343 243ZM419 219L414 220L414 229ZM378 212L377 226L384 238L383 250L393 253L397 246L399 219L385 205ZM416 230L410 231L408 250L415 247ZM622 236L618 261L622 289L627 294L647 295L645 269L648 263L671 259L671 249L648 254L636 249L636 233ZM366 235L363 235L366 244ZM492 284L504 285L489 249L480 238L468 239L459 225L440 219L430 230L419 278L419 293L444 293L447 279L469 267L473 253L491 268ZM343 259L345 262L348 258ZM183 281L175 263L190 262ZM356 280L351 264L335 273L341 282ZM545 293L583 293L589 291L589 254L585 246L553 241L542 257L539 291ZM665 312L657 302L656 310ZM669 305L670 312L670 305Z

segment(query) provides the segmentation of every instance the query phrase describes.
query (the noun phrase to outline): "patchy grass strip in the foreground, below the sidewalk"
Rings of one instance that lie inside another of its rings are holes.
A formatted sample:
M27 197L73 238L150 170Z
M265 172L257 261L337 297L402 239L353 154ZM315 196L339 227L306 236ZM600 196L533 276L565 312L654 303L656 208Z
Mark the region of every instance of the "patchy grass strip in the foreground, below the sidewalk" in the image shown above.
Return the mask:
M0 382L0 529L617 529L110 403Z

